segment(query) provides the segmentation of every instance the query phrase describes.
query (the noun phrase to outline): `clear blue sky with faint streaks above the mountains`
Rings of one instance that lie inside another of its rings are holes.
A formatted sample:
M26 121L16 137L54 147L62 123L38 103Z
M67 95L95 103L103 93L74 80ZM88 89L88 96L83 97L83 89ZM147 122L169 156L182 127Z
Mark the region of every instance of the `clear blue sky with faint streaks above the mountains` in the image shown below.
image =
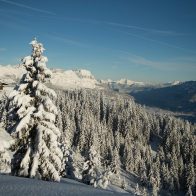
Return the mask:
M195 10L195 0L0 0L0 64L18 64L36 36L51 68L196 80Z

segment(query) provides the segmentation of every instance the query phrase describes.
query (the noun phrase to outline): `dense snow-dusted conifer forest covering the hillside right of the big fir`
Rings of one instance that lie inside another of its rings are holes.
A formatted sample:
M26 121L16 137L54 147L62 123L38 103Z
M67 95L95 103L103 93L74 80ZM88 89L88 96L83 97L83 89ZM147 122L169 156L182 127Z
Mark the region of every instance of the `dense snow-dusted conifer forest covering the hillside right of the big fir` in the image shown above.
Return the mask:
M57 94L63 175L94 184L98 175L109 179L109 172L119 175L122 168L138 175L140 186L154 194L195 193L195 126L149 113L131 98L107 91ZM0 118L6 126L5 102L1 101Z

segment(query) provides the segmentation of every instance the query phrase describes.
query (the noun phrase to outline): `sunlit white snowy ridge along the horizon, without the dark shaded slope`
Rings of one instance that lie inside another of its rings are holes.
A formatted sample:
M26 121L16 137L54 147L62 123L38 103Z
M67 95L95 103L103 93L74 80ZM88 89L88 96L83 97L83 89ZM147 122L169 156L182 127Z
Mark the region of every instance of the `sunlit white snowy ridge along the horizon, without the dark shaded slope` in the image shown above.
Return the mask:
M174 86L179 85L182 82L173 81L162 84L150 84L140 81L133 81L126 78L120 80L100 80L97 81L95 76L85 69L76 69L76 70L63 70L63 69L51 69L53 72L52 79L50 80L51 84L54 86L59 86L61 88L96 88L98 84L109 85L112 89L124 89L124 88L143 88L143 87L165 87L165 86ZM22 75L25 73L23 67L18 65L0 65L0 82L4 83L16 83Z

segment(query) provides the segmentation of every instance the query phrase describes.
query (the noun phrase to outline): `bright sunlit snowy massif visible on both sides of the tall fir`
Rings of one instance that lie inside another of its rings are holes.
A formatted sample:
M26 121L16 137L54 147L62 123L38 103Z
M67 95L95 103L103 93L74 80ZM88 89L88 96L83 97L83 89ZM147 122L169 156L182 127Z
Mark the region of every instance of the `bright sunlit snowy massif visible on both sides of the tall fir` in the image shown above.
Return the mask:
M59 86L61 88L96 88L98 84L95 77L88 70L52 70L53 75L50 80L51 84L54 86ZM0 65L0 82L4 83L16 83L25 70L18 66L1 66Z

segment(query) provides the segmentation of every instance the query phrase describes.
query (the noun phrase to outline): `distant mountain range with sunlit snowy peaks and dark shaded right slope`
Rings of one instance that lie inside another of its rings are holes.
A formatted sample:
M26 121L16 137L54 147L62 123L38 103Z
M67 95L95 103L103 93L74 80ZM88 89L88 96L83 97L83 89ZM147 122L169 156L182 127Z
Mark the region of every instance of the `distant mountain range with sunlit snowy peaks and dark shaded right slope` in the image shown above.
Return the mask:
M85 69L52 69L52 72L50 85L61 89L106 88L131 95L139 104L180 112L181 117L196 121L196 81L152 84L129 79L97 80L89 70ZM24 73L24 69L20 66L0 66L0 82L15 85Z

